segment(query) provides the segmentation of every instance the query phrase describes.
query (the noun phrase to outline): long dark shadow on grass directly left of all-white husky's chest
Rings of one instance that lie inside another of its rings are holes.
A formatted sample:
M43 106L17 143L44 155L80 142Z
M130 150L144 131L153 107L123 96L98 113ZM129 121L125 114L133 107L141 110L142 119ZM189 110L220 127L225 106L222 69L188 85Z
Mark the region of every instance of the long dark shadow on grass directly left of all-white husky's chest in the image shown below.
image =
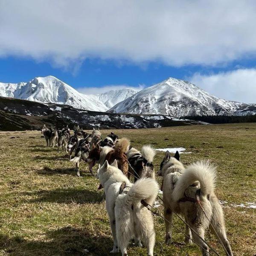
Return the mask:
M87 204L101 203L102 191L89 189L54 189L23 192L23 195L32 196L29 203L58 203L58 204ZM26 201L27 202L27 201Z

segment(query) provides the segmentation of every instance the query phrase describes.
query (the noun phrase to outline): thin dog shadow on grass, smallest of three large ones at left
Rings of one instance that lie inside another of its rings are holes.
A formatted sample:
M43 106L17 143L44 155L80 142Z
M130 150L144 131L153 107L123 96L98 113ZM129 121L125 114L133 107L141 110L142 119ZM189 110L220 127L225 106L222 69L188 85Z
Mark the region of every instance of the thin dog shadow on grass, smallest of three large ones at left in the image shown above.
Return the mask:
M63 159L65 160L65 159ZM84 166L81 166L80 168L80 175L81 177L83 176L92 176L89 170L84 171ZM61 174L61 175L72 175L76 176L76 171L75 171L75 166L73 168L49 168L48 166L44 166L44 169L37 170L37 174L39 175L56 175L56 174ZM78 177L79 178L79 177Z

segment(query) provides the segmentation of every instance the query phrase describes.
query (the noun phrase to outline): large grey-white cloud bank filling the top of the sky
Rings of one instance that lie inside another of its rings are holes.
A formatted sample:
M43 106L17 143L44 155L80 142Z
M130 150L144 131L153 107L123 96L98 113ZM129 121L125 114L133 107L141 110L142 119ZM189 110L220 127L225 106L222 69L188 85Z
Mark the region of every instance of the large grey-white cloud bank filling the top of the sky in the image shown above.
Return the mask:
M223 64L255 55L255 24L254 0L8 0L0 56L65 68L85 58Z

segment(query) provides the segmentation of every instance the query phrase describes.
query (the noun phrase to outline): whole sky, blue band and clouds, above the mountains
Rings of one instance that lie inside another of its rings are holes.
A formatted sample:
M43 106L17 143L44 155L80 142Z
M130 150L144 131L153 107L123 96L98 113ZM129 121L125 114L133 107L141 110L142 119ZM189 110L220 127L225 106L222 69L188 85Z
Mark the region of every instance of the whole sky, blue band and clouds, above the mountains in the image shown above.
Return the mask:
M253 1L9 0L0 7L1 82L52 75L98 93L174 77L256 103Z

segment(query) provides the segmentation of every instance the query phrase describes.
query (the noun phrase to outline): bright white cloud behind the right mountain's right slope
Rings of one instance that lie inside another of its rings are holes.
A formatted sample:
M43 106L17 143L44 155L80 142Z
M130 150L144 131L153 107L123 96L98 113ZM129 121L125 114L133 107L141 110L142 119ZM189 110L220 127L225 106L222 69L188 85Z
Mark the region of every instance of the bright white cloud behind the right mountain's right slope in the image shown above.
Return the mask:
M222 99L256 103L256 69L238 69L212 75L195 73L188 80Z

